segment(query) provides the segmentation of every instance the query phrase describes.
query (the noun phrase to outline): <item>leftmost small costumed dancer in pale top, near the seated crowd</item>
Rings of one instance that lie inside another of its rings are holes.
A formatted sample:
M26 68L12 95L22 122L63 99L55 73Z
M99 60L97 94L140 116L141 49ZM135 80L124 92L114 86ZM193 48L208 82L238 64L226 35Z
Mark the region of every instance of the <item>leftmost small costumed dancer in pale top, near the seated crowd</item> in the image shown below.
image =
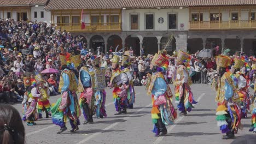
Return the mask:
M28 100L29 106L27 108L27 111L25 113L26 119L27 119L27 125L36 125L34 121L38 119L38 113L37 113L37 103L38 99L42 97L42 95L38 91L38 87L42 86L41 81L33 82L32 83L32 89L31 93L28 95L30 99Z

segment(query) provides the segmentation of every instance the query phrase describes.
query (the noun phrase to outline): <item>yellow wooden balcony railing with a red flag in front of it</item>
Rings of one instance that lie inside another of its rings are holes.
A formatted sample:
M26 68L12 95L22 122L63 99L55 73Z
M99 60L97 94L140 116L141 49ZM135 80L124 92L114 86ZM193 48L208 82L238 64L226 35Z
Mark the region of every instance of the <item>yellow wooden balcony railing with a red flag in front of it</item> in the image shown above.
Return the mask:
M82 29L81 23L55 23L56 29L62 29L71 32L113 32L121 31L121 23L85 23L85 28Z

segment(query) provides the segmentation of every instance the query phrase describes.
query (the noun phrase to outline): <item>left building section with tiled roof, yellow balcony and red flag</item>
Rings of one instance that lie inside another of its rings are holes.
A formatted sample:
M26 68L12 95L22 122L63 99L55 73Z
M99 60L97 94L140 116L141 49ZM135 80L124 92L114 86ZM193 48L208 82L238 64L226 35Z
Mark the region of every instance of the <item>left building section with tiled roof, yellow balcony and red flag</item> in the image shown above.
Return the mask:
M58 29L65 29L83 38L92 50L110 46L123 47L121 34L121 3L119 0L51 0L45 9L51 11L51 21Z

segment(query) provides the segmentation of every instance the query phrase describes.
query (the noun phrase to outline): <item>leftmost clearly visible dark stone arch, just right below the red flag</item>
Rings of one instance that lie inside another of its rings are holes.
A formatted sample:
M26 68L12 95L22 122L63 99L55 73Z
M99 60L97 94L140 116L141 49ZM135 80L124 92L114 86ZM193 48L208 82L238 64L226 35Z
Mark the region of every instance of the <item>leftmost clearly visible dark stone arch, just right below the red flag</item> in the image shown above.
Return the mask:
M97 47L101 47L101 51L105 50L105 40L101 35L93 35L90 39L90 49L91 51L96 52Z

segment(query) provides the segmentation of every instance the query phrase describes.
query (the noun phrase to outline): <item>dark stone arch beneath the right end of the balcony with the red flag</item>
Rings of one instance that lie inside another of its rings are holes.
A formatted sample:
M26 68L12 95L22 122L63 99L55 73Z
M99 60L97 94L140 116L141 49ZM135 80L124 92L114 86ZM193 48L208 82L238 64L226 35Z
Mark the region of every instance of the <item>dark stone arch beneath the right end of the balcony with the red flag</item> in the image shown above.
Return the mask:
M112 52L114 52L117 46L118 46L117 51L124 48L122 38L116 34L110 35L107 39L107 47L106 47L107 51L109 51L109 48L112 47L113 48Z

